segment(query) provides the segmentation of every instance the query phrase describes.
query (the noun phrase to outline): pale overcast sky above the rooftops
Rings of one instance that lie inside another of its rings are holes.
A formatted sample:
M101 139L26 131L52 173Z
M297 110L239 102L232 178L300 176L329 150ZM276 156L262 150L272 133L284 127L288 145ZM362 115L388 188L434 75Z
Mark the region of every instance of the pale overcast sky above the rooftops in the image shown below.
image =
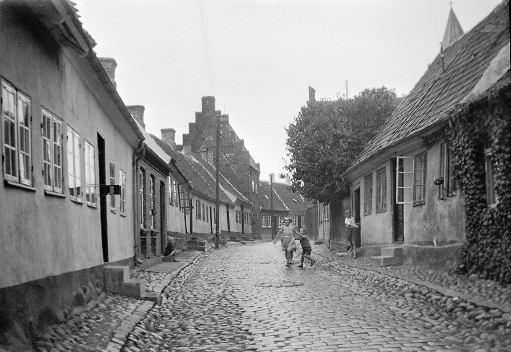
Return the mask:
M450 8L468 32L500 0L74 0L98 57L117 61L146 130L188 133L201 98L261 164L286 172L285 128L309 99L385 86L406 95L440 50ZM347 82L347 83L346 83Z

